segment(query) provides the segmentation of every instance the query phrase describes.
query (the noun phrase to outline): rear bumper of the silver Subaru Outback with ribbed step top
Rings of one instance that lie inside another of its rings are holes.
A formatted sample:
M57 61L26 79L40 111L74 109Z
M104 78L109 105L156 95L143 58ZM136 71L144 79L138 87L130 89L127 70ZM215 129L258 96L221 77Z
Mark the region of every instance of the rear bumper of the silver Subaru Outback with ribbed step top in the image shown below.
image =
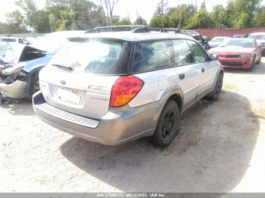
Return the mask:
M58 118L52 113L41 109L40 105L47 104L43 99L41 91L33 95L32 102L36 115L61 131L104 145L120 145L144 136L152 135L166 101L161 100L136 108L125 108L125 110L109 110L100 120L90 119L92 123L95 123L90 126L84 126L64 118ZM51 111L57 109L56 107L52 108L53 110ZM57 110L62 111L61 109ZM66 112L66 114L67 117L69 115L71 116L72 113ZM78 119L83 118L89 120L86 117L76 116L80 117Z

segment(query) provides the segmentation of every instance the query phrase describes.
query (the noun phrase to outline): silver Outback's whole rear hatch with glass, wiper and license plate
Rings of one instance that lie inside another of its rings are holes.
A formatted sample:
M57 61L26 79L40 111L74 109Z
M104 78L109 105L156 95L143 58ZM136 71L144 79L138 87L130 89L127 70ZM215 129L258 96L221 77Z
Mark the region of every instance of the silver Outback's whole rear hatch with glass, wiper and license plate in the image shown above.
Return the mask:
M40 71L45 101L73 114L101 119L109 110L113 84L120 75L129 74L131 50L129 41L74 39Z

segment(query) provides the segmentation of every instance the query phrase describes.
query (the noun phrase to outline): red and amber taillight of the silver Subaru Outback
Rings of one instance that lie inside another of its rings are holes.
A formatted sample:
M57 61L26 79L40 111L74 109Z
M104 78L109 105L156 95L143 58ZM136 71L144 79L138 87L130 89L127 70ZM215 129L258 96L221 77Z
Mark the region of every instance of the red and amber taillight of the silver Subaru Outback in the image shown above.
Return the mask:
M140 92L143 86L144 81L135 76L120 76L112 86L109 106L124 106Z

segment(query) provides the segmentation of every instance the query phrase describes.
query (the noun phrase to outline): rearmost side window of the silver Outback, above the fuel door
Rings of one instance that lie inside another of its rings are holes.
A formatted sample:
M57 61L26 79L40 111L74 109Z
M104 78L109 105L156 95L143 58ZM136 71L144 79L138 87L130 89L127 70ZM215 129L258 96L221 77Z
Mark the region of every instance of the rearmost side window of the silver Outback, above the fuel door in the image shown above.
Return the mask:
M172 55L171 41L136 43L131 73L170 67Z

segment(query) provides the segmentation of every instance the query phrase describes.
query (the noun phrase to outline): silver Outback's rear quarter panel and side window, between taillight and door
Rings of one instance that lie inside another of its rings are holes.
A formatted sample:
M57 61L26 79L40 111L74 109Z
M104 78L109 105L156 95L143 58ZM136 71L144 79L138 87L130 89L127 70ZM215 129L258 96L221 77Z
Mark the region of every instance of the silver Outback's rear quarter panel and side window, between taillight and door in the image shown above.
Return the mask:
M177 86L173 56L171 40L135 43L130 74L145 84L130 107L158 101L168 88Z

